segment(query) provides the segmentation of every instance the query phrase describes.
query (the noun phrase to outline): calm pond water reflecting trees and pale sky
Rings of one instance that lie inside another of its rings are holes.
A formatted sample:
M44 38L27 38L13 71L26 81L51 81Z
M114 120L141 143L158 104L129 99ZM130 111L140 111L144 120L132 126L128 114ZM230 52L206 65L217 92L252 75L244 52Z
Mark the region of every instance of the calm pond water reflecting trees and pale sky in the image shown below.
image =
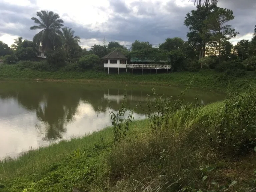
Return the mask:
M84 135L109 126L108 98L118 110L123 93L131 108L151 89L158 94L177 96L184 88L100 83L1 82L0 83L0 158L51 142ZM191 89L187 101L195 95L201 104L222 100L225 95ZM142 109L135 109L134 118L144 118Z

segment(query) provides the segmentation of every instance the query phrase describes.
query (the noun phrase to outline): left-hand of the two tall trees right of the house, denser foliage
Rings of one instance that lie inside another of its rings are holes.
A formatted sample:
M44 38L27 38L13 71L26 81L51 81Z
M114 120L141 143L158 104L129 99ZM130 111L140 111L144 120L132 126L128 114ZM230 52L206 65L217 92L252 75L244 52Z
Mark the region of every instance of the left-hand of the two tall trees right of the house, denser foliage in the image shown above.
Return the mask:
M209 25L206 21L215 7L215 4L210 5L208 8L205 6L197 6L196 10L187 13L185 17L184 25L186 25L190 31L187 34L188 43L198 52L199 59L206 54L206 45L211 37ZM201 68L202 67L201 65Z

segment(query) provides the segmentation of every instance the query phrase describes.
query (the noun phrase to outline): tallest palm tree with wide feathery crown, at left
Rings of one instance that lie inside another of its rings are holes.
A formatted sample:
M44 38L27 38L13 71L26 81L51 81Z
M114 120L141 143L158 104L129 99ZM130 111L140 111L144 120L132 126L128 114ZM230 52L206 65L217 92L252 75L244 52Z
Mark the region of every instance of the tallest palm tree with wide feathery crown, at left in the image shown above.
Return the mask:
M42 44L43 50L54 49L56 43L59 40L59 36L62 35L61 27L63 26L63 20L59 19L60 16L52 11L40 11L36 12L39 17L32 17L31 19L38 25L30 27L30 30L40 29L41 31L37 33L33 41L36 43L37 47Z

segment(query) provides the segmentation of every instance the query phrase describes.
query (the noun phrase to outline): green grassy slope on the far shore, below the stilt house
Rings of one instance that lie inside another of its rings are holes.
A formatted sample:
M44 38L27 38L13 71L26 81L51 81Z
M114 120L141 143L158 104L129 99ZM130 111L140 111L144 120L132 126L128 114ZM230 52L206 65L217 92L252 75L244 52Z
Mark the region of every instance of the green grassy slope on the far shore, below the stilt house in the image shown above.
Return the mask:
M70 81L105 81L122 82L130 84L165 84L185 86L192 81L193 87L210 90L226 90L233 86L238 90L246 90L249 85L256 84L256 73L246 71L243 76L230 76L226 73L218 73L214 70L201 70L199 72L170 72L168 74L143 74L131 75L116 72L108 75L106 71L64 71L55 72L22 69L19 65L0 65L0 80L70 80Z

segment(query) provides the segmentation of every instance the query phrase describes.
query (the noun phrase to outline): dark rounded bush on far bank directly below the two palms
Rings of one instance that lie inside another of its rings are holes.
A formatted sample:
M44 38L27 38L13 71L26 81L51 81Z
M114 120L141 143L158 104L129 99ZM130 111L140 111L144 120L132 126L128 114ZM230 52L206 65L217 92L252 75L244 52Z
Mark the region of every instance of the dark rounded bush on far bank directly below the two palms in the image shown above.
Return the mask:
M46 57L48 64L54 68L60 68L66 64L66 54L62 49L48 51Z

